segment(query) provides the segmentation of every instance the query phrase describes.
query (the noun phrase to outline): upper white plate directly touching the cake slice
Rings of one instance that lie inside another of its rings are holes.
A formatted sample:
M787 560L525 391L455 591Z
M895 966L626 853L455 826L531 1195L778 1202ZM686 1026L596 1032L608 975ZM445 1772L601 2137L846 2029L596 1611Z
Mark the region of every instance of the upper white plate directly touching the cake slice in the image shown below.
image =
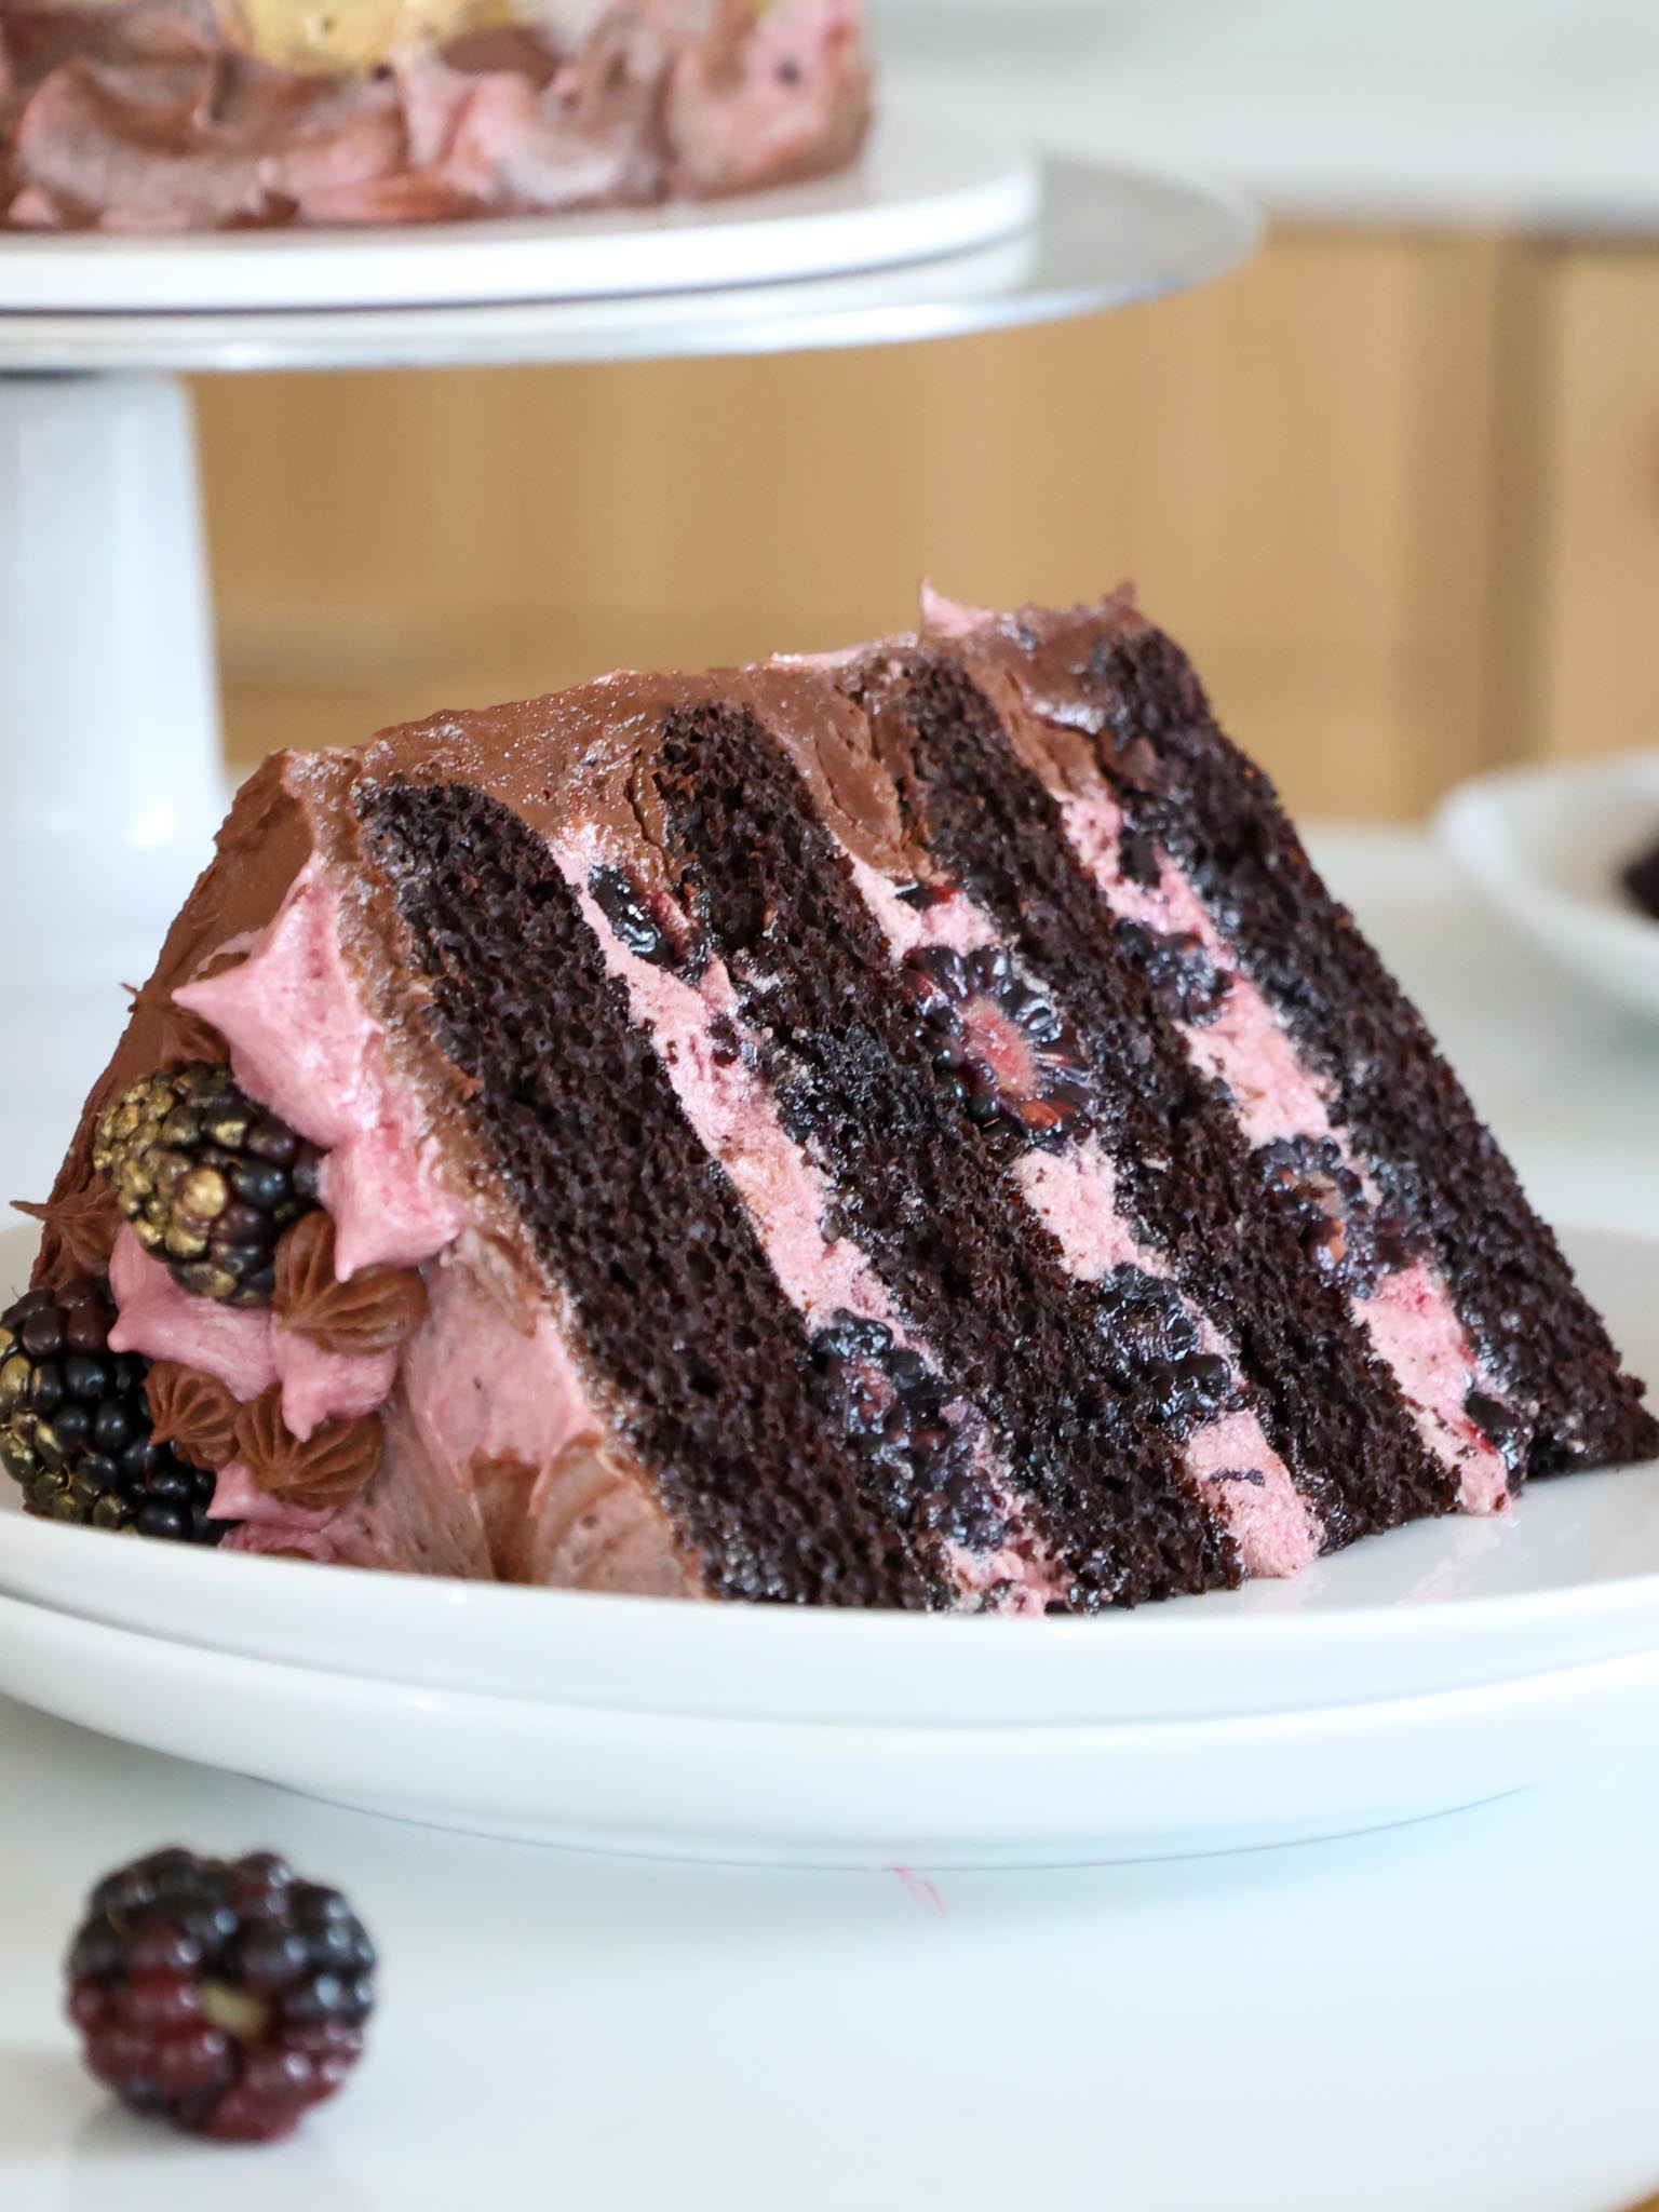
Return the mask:
M1659 1380L1659 1241L1568 1248ZM0 1239L0 1281L29 1237ZM0 1590L208 1648L710 1721L1084 1725L1402 1699L1659 1650L1659 1467L1537 1484L1502 1524L1420 1522L1292 1582L1093 1621L684 1606L374 1575L62 1528L0 1482Z

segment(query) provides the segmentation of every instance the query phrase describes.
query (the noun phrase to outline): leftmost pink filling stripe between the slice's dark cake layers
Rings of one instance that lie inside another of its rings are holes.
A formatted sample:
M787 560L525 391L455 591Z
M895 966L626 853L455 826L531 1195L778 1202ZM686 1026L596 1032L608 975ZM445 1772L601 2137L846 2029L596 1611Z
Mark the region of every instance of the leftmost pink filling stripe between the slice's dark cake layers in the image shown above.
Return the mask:
M741 1051L734 1053L730 1042L717 1040L717 1022L728 1031L728 1037L741 1035L737 1029L737 987L726 964L710 958L699 982L690 984L628 951L588 889L593 867L613 858L604 852L597 827L586 825L562 838L553 847L553 856L582 902L582 914L599 942L606 967L628 991L635 1020L650 1031L686 1119L730 1177L779 1287L807 1327L823 1327L836 1312L858 1314L867 1321L880 1321L894 1332L898 1345L927 1358L927 1345L905 1327L887 1285L858 1245L825 1230L830 1181L783 1128L763 1079L745 1066ZM900 914L909 911L902 900L896 905ZM964 900L956 900L956 905L964 905ZM964 1416L967 1407L958 1409L956 1418ZM1002 1511L1013 1511L1006 1482L989 1464L984 1449L980 1449L978 1460ZM1064 1577L1035 1544L1006 1546L995 1553L949 1546L949 1553L951 1571L964 1590L982 1593L1013 1586L1011 1595L1004 1593L1004 1608L1011 1613L1042 1613L1064 1590Z

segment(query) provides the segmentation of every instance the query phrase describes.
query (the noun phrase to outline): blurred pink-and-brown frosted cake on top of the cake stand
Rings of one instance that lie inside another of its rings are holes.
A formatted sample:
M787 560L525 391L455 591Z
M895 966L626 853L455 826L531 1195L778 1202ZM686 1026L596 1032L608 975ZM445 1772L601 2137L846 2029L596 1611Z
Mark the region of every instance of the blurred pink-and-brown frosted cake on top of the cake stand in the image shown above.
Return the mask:
M429 223L847 166L860 0L4 0L33 230Z

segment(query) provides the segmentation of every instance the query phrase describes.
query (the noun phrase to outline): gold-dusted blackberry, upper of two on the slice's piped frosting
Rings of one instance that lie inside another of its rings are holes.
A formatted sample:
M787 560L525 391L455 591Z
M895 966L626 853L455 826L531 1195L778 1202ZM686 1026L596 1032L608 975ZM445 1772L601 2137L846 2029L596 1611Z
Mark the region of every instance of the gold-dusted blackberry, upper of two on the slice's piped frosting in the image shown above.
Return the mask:
M270 1305L276 1245L316 1206L321 1155L210 1060L177 1060L97 1124L93 1166L175 1283L223 1305Z

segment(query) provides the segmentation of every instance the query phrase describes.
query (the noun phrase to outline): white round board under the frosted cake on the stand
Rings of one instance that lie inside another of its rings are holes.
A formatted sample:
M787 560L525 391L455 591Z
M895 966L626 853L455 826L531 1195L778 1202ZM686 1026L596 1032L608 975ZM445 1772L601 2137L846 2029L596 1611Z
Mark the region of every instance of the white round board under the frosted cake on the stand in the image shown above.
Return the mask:
M856 168L595 215L192 237L0 232L0 312L429 307L832 276L964 252L1037 219L1033 159L896 108Z

